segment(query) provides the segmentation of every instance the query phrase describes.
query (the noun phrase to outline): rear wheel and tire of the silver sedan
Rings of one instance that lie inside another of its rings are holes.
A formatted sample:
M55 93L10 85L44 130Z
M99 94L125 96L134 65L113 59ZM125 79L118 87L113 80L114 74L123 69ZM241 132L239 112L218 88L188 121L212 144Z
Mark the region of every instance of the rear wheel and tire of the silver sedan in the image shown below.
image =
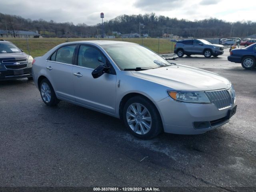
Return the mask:
M60 102L48 79L45 78L40 82L39 90L41 98L46 105L55 106Z

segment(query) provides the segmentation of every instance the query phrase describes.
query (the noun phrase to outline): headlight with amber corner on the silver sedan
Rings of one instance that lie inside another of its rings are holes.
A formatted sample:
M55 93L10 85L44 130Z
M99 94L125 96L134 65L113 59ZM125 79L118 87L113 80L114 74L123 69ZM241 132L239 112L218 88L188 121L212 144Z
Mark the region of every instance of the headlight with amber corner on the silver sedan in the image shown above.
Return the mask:
M204 92L167 92L169 96L176 101L187 103L211 103Z

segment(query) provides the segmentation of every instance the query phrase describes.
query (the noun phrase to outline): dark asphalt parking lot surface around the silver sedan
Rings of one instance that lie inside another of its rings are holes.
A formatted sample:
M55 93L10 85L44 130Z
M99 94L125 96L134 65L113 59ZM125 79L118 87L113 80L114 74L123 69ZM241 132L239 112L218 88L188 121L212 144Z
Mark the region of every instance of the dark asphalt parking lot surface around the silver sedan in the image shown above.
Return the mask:
M201 135L138 140L119 119L63 101L44 105L26 78L0 82L0 186L255 189L256 70L228 62L228 54L172 61L220 74L236 90L230 122Z

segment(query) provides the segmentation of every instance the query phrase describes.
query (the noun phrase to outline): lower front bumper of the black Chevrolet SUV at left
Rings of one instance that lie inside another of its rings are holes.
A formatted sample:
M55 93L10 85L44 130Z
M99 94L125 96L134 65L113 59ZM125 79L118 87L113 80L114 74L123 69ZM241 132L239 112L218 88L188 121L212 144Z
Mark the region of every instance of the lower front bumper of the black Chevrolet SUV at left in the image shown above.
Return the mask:
M20 71L17 73L16 71ZM32 77L32 67L24 68L22 70L10 70L0 68L0 80L10 80L10 79L19 79L19 78L28 78Z

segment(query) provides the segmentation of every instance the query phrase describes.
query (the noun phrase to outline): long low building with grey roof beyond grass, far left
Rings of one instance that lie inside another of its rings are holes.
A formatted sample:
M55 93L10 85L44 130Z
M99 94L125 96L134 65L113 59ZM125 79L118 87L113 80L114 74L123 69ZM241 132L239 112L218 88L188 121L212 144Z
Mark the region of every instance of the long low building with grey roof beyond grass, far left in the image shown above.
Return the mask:
M16 38L39 38L42 37L39 33L34 31L14 31L16 34ZM6 37L14 37L12 31L8 30L0 30L0 38L6 38Z

